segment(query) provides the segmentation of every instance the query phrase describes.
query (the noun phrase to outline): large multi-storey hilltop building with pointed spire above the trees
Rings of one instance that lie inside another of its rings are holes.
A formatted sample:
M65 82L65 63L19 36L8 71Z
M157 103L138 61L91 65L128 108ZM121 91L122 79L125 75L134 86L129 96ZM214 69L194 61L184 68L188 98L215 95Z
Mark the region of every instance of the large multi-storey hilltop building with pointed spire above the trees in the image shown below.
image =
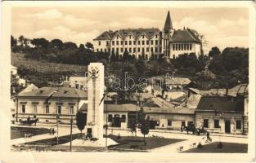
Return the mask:
M173 29L170 13L165 20L164 29L119 29L106 31L93 40L94 51L107 52L122 57L127 51L135 58L150 59L162 55L175 59L178 55L206 54L203 35L193 29Z

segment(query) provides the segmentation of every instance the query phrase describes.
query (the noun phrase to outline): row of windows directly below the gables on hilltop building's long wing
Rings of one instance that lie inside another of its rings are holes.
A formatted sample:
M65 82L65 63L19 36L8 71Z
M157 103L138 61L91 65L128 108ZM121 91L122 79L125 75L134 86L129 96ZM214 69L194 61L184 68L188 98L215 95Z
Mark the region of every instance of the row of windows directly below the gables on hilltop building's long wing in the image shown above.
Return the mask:
M141 40L141 41L112 41L111 42L111 45L112 46L119 46L119 44L122 46L122 45L154 45L154 40ZM155 45L161 45L162 44L162 40L155 40ZM101 41L98 42L98 45L101 46ZM109 46L110 45L110 42L109 41L106 41L106 46Z

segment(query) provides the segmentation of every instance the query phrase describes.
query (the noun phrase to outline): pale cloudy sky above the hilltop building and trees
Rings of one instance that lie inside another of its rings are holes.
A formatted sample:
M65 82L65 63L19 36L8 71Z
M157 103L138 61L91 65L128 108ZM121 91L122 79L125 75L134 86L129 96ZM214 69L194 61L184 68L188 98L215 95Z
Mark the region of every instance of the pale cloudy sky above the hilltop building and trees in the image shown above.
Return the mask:
M79 45L109 29L163 29L168 11L174 29L197 30L204 34L209 48L249 45L247 8L13 7L11 34L59 38Z

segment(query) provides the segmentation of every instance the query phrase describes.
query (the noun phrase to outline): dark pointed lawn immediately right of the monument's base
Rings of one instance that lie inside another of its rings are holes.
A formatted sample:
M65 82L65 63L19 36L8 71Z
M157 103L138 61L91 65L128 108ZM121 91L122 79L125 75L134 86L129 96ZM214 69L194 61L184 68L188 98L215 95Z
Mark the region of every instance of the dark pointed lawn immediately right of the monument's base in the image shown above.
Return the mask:
M159 137L146 137L146 145L144 145L143 137L122 136L120 139L116 135L110 135L109 138L118 142L118 145L110 147L110 149L134 149L147 150L159 148L171 143L184 141L185 139L165 139Z

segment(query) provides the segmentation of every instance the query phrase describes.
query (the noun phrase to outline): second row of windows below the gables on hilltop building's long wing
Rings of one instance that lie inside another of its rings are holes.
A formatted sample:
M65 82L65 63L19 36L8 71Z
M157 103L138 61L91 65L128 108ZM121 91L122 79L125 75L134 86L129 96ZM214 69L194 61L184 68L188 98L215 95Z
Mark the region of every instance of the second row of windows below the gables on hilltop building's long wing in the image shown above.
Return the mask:
M98 49L97 48L97 52L103 52L103 50L104 50L104 52L107 52L107 50L106 49ZM116 51L116 53L119 53L119 50L120 50L120 52L124 52L124 51L128 51L129 53L132 53L132 52L145 52L145 48L144 47L137 47L137 48L135 48L135 47L133 47L133 48L123 48L123 47L121 47L121 48L112 48L112 51ZM155 50L155 52L160 52L160 51L162 51L162 48L161 47L151 47L151 48L149 48L149 47L146 47L146 52L154 52L154 50ZM110 50L108 50L108 52L110 52Z

